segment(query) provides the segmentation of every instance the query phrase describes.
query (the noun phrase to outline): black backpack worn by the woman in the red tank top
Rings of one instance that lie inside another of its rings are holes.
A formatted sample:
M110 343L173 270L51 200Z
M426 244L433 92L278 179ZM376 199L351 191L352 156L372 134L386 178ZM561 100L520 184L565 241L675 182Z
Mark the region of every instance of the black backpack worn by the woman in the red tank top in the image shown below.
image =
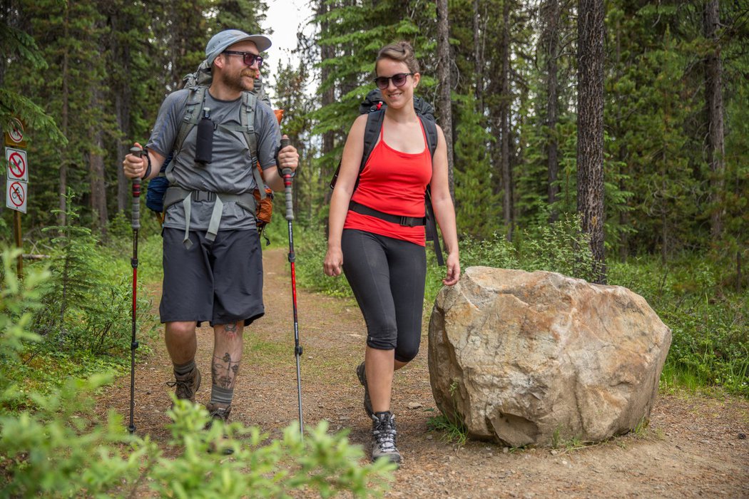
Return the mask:
M377 138L380 137L380 129L382 129L382 123L385 119L386 107L387 106L382 99L382 93L378 88L370 91L359 106L359 113L367 114L367 124L364 129L364 151L362 154L362 161L359 165L360 174L362 173L364 165L366 165L369 156L372 154L372 150L375 149ZM421 120L422 126L424 126L429 153L431 154L431 157L434 158L434 151L437 150L437 123L434 120L434 108L431 106L431 104L429 104L429 102L426 102L422 98L416 96L413 97L413 108L416 111L416 116L418 116L419 120ZM330 179L330 189L333 189L336 186L336 181L338 180L338 174L340 170L341 162L338 163L336 173L333 174L333 178ZM354 189L356 189L358 185L359 177L357 177L357 183L354 185ZM434 223L434 209L432 209L431 206L430 186L426 186L426 191L424 192L424 203L426 219L425 223L420 223L419 225L426 225L426 240L434 242L434 253L437 255L437 263L439 265L444 265L445 262L442 257L442 249L440 248L440 238L437 235L437 224ZM361 206L362 205L357 205L357 208L360 208ZM364 206L364 209L366 211L366 215L373 215L379 216L379 218L384 218L384 214L378 215L378 212L375 212L374 210L369 209L366 206ZM357 211L359 211L359 209L357 209ZM389 220L389 218L386 219Z

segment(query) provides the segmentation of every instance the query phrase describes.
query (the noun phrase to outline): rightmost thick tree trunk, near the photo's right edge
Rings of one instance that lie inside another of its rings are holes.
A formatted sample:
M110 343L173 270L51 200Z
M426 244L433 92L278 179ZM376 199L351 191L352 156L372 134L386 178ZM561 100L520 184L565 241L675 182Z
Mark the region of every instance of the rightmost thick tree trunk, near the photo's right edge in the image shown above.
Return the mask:
M707 153L712 174L712 215L710 229L714 241L723 233L723 191L725 188L725 147L723 125L723 94L721 69L721 43L718 40L720 26L718 0L709 0L703 12L705 37L712 42L713 50L705 58L705 100L708 117Z

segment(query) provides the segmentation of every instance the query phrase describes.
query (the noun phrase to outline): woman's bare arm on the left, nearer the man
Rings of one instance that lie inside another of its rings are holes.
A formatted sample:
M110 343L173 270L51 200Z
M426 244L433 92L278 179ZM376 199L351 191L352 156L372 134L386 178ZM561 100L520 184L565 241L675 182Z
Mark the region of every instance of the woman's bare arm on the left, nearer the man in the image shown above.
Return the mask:
M364 153L364 129L367 123L367 115L362 114L354 121L348 132L346 144L343 147L341 159L341 170L330 198L330 215L328 224L328 249L323 263L327 275L341 275L343 266L343 252L341 251L341 236L343 224L348 213L348 203L354 194L354 186L359 177L359 167Z

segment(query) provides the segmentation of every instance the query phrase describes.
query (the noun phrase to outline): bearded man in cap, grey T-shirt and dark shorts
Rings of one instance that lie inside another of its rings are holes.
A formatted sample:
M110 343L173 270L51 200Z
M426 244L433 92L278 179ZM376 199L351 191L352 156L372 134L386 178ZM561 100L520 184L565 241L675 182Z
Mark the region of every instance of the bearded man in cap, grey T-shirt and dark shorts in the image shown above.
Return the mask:
M249 198L257 187L252 159L256 154L265 183L276 191L284 188L279 171L289 168L294 172L299 162L294 147L279 150L279 125L263 102L254 106L251 123L256 151L248 146L242 131L242 114L247 111L243 91L252 90L260 76L260 53L269 47L267 37L238 30L221 31L207 43L205 55L213 79L197 109L201 117L212 121L213 134L209 129L207 135L212 150L203 147L204 136L197 138L198 126L175 150L188 100L194 97L192 91L183 89L162 103L143 157L129 154L123 162L127 177L148 179L157 176L174 152L166 169L170 188L165 198L159 311L166 325L164 338L179 399L195 402L201 382L195 365L195 327L203 321L213 326L213 385L207 408L214 419L227 420L231 412L243 328L264 314L260 236L253 206L248 206L254 202ZM198 143L201 151L196 151ZM196 161L196 152L206 156L207 149L208 162Z

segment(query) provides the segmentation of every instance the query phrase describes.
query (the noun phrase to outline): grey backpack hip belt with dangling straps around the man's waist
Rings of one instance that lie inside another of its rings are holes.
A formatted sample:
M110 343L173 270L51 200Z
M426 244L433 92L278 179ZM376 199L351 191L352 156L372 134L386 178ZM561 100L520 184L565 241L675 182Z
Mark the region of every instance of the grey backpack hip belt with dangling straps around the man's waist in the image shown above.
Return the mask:
M164 197L164 210L166 211L169 206L173 204L182 203L185 210L185 235L182 239L182 244L185 248L189 249L192 246L192 241L189 240L189 219L191 214L191 203L192 201L213 201L213 212L210 214L210 221L208 222L208 230L205 234L205 239L210 242L216 239L216 234L219 232L219 224L221 223L221 216L223 213L224 203L237 203L243 209L246 209L249 213L255 214L255 196L252 192L243 192L242 194L228 194L228 192L207 192L207 191L190 191L188 189L182 189L179 186L169 186L166 189L166 195Z

